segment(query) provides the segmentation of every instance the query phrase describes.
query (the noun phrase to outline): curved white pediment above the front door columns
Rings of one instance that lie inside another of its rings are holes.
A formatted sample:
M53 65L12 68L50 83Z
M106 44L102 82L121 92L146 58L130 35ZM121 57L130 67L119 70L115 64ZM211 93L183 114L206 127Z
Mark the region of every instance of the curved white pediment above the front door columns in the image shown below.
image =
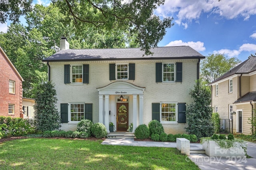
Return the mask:
M97 88L99 95L143 95L145 87L139 87L126 81L116 81Z

